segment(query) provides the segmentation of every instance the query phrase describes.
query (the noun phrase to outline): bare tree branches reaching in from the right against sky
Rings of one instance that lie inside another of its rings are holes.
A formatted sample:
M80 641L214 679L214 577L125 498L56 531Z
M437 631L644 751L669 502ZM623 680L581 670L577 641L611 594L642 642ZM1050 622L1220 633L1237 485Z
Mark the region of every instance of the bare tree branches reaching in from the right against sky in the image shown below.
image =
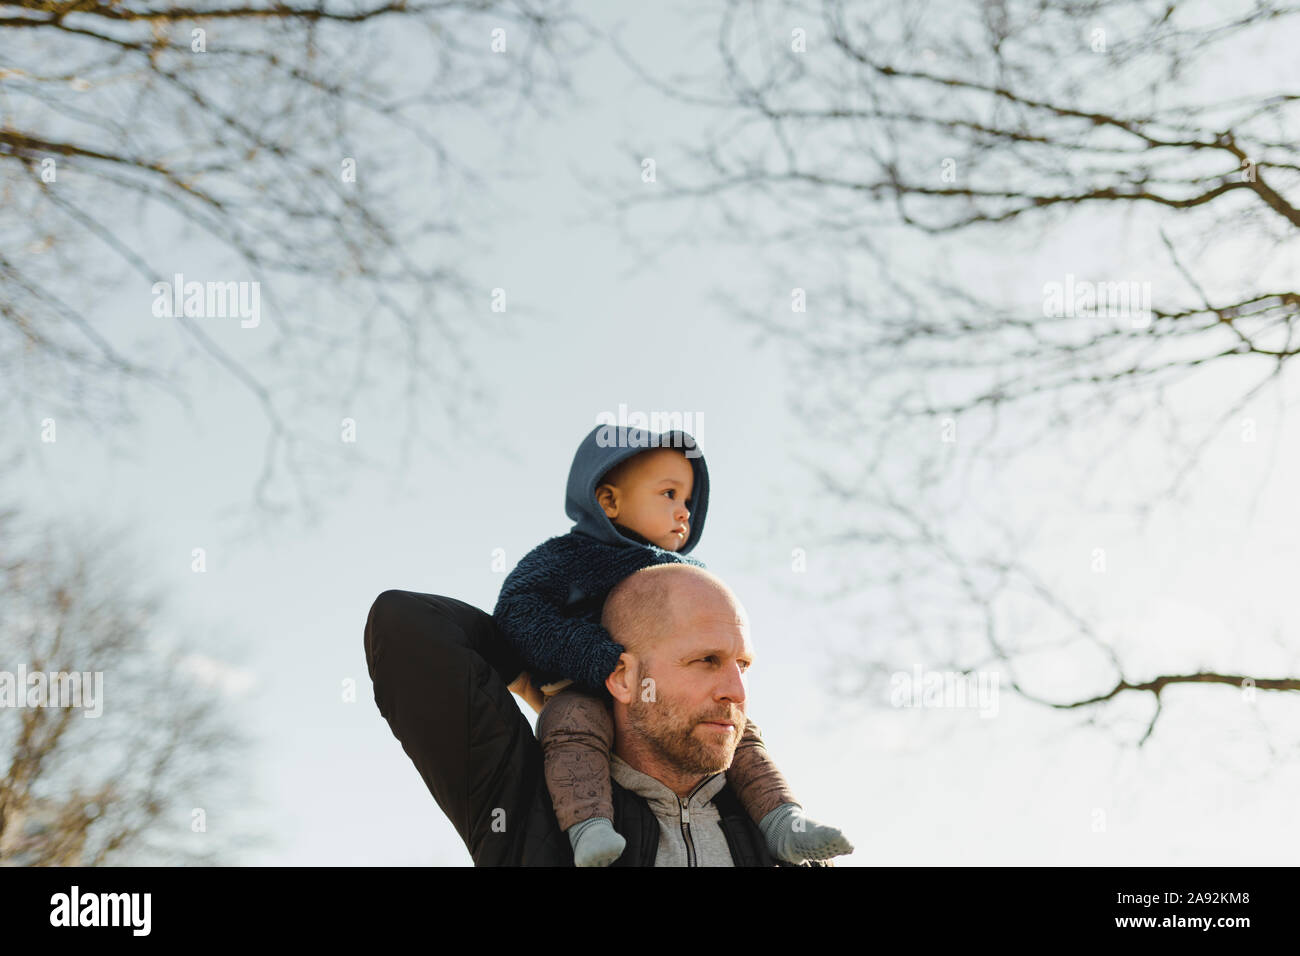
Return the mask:
M1231 12L971 0L942 16L871 1L729 3L720 72L671 79L611 38L642 81L702 117L706 135L660 152L653 187L593 189L624 219L680 204L692 238L733 242L767 267L757 274L768 287L723 286L718 298L788 358L789 401L815 442L805 464L835 502L836 520L809 535L833 555L826 597L890 602L893 617L862 626L889 648L867 656L867 674L915 649L910 659L962 672L996 666L1053 709L1150 693L1141 741L1166 687L1248 679L1173 661L1132 676L1122 650L1026 567L1018 542L968 557L970 542L940 532L950 515L937 502L976 464L1009 470L1026 450L1058 446L1065 429L1122 432L1162 414L1175 460L1139 502L1145 512L1182 490L1266 389L1280 394L1300 326L1300 294L1280 265L1300 228L1300 92L1284 86L1297 14L1270 0ZM1243 56L1249 82L1234 82ZM1191 77L1216 79L1180 82ZM1071 238L1086 263L1076 276L985 274ZM1135 272L1147 307L1102 308ZM1053 303L1066 278L1097 293L1096 307ZM1182 410L1169 397L1223 369L1239 371L1236 390L1175 445ZM961 446L939 440L958 428ZM936 601L940 583L952 605ZM1027 645L998 620L1009 596L1049 613L1066 639ZM1104 663L1102 691L1069 698L1018 678L1030 652L1075 643ZM1288 676L1249 680L1297 689Z

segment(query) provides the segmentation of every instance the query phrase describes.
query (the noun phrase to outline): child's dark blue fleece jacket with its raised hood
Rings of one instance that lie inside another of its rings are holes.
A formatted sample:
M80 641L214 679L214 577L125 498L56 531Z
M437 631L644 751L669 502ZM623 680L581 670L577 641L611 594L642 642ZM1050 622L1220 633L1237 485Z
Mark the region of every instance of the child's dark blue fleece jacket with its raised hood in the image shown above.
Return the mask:
M694 471L690 535L677 551L664 550L614 524L595 499L595 488L611 468L654 447L681 449ZM604 679L624 650L601 627L610 589L651 564L705 566L686 557L705 532L708 511L703 453L685 432L597 425L573 455L564 511L575 522L572 531L543 541L523 557L500 588L493 618L524 658L534 684L569 678L581 689L603 696Z

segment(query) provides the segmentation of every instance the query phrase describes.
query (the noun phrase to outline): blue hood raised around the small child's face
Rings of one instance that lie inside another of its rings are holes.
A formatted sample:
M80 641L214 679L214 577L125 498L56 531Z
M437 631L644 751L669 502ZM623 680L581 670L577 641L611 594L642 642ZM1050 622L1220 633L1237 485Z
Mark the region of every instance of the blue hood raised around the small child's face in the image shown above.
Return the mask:
M573 531L606 544L636 546L633 540L621 535L614 522L606 518L604 510L595 501L595 486L610 468L654 447L681 449L690 462L696 475L690 496L690 535L676 553L688 554L699 542L705 533L705 514L708 511L708 468L705 467L703 451L686 432L650 432L625 425L597 425L573 455L564 492L564 512L576 522Z

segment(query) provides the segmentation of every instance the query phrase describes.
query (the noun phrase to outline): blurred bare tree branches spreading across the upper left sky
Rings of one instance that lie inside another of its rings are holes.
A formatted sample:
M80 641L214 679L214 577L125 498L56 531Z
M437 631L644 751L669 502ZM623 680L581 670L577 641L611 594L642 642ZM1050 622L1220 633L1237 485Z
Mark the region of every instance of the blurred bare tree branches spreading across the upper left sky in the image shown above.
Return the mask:
M185 380L156 349L99 332L92 313L109 285L126 290L114 302L148 308L185 248L156 237L194 226L199 248L214 242L226 258L192 278L256 282L273 312L238 349L173 317L190 354L263 410L263 516L285 512L282 486L313 511L312 476L338 473L337 436L298 424L304 408L339 401L335 368L348 367L354 401L404 368L393 398L408 399L408 450L482 410L459 316L486 311L491 280L473 274L454 199L481 190L486 170L458 155L448 130L465 114L517 122L567 90L584 25L564 0L4 0L0 13L10 401L118 424L134 420L127 386L183 402ZM393 51L408 69L394 70ZM75 347L73 333L96 349Z

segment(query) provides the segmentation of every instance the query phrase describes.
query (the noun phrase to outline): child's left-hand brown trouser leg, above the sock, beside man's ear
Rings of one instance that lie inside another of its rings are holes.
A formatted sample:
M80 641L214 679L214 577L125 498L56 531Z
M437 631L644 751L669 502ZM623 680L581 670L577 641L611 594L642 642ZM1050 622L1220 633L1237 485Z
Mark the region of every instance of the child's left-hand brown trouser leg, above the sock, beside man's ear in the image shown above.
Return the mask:
M604 817L612 823L610 748L614 745L614 718L604 701L572 687L560 691L542 708L537 737L560 830L592 817Z

